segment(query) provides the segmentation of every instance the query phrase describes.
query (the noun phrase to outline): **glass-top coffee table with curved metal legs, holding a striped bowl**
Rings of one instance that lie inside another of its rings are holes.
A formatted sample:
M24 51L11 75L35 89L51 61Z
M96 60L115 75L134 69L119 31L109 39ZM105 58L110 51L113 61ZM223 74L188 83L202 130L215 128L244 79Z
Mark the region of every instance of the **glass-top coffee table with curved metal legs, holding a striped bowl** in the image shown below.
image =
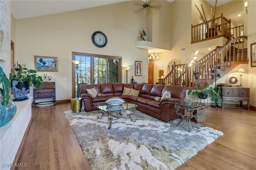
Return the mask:
M103 117L104 114L108 115L108 120L109 120L108 129L111 128L113 120L117 120L117 119L120 119L123 117L129 117L131 119L131 121L133 121L132 118L130 117L131 115L133 115L133 113L123 115L122 111L126 111L126 110L134 111L137 107L136 104L132 104L129 102L124 102L123 104L116 105L116 106L109 105L104 102L104 103L97 104L95 106L98 108L98 111L102 113L100 119ZM114 117L114 119L113 119L113 117ZM133 122L135 122L135 121L133 121Z

